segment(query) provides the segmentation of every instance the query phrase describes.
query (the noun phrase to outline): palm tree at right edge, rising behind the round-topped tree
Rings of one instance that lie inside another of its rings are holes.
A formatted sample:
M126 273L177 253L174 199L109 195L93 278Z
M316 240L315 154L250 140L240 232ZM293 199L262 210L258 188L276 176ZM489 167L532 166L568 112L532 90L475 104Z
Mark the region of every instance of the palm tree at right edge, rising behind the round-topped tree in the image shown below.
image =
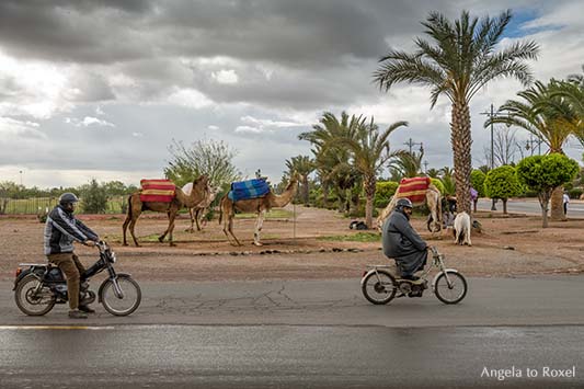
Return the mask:
M526 129L541 139L549 152L563 153L563 146L571 135L582 134L582 121L570 103L569 99L557 93L561 83L551 80L548 84L537 81L533 87L517 93L523 101L508 100L499 111L507 115L496 115L486 121L504 123ZM564 218L562 208L563 187L554 191L551 198L551 218Z

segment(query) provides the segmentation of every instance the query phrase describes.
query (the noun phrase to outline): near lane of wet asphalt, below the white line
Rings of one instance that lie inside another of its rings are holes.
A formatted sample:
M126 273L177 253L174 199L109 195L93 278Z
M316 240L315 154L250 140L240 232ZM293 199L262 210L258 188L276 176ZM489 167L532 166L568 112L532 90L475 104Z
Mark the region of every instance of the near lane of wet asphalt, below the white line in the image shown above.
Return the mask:
M583 336L583 327L563 325L3 329L0 381L2 388L582 388Z

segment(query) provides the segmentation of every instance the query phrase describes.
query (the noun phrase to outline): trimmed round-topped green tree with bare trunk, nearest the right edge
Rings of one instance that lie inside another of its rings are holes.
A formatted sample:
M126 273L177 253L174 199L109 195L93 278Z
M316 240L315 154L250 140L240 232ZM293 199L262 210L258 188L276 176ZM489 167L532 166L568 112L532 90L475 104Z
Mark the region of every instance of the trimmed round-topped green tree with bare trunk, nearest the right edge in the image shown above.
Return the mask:
M577 162L560 153L533 156L520 160L516 170L519 182L537 192L542 227L547 228L551 194L557 187L574 179L579 171Z

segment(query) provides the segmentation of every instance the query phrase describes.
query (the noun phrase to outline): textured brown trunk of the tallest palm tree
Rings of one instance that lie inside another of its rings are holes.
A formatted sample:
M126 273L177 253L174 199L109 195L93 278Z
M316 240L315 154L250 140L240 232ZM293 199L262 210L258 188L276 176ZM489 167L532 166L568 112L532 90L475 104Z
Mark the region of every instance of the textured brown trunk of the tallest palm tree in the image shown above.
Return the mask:
M466 102L453 104L450 141L455 162L456 198L458 211L470 213L470 173L472 171L470 110Z

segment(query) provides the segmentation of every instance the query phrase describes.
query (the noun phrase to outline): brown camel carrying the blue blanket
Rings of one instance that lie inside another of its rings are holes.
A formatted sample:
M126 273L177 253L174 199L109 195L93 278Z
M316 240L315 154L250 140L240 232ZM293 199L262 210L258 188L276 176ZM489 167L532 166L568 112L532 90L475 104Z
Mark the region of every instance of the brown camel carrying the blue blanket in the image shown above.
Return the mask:
M231 237L233 237L233 239L236 240L237 245L241 245L238 238L233 233L233 218L236 217L236 210L244 213L256 213L257 219L255 221L255 230L253 233L253 244L262 245L262 243L260 242L260 231L262 230L262 226L264 224L265 213L268 211L271 208L285 207L288 203L290 203L298 190L299 178L300 175L298 173L293 174L288 186L286 186L286 190L279 196L273 194L272 192L268 192L262 197L240 199L233 203L233 201L230 199L226 194L221 198L220 203L221 210L219 214L219 224L224 221L224 232L227 237L227 240L230 241L229 234L231 234ZM231 242L231 244L233 243Z

